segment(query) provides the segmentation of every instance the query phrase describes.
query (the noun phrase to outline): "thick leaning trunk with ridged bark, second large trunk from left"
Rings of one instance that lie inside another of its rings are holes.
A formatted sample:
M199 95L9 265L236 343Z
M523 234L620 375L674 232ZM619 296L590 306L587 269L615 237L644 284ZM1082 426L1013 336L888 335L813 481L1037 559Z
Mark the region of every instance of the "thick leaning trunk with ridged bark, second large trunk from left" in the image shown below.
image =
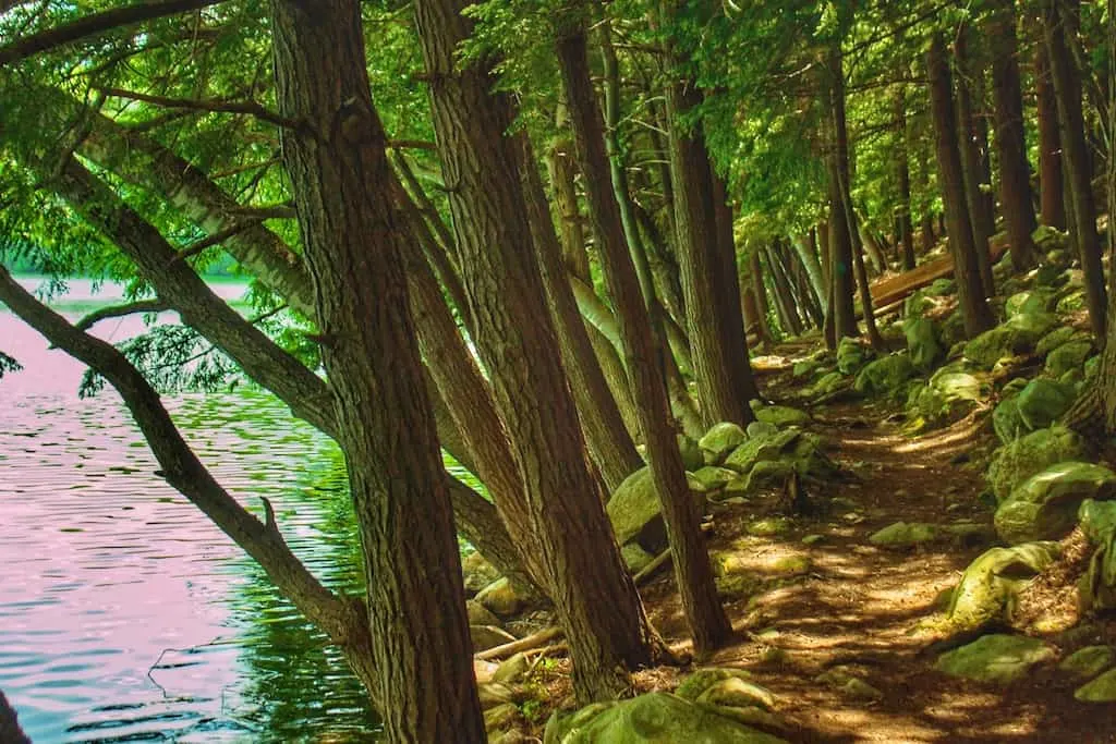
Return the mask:
M625 669L651 663L661 641L590 475L538 264L523 249L531 234L518 157L504 137L510 103L491 93L485 69L462 65L456 55L470 33L464 7L463 0L415 3L458 264L478 323L477 348L523 480L531 533L522 539L537 551L569 641L576 695L609 698L628 688Z

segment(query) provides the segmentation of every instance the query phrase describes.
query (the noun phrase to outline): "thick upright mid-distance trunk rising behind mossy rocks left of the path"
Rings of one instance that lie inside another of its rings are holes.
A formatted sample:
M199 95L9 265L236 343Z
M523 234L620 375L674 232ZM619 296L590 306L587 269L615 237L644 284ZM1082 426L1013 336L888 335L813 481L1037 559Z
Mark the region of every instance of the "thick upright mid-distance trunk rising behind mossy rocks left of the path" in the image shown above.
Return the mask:
M721 281L724 261L719 255L712 170L700 126L682 131L679 122L701 96L682 83L666 87L670 115L671 177L674 182L674 220L682 294L686 306L686 335L693 351L698 397L708 428L722 421L747 426L753 416L748 406L747 346L743 322L735 323L721 311L727 289ZM735 276L735 274L733 274ZM733 327L730 328L730 325ZM737 328L735 326L739 326ZM731 342L725 339L733 338ZM744 354L745 366L737 359ZM730 356L731 355L731 356Z

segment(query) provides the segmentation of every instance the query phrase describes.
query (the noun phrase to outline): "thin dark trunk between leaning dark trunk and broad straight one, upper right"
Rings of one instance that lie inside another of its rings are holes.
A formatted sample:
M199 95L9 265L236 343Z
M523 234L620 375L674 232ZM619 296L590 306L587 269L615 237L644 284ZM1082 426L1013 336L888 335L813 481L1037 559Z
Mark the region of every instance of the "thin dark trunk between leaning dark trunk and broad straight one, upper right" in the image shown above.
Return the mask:
M995 294L995 281L992 279L992 257L989 253L989 241L995 232L995 215L992 213L988 200L984 199L984 168L981 164L977 113L973 109L973 91L979 89L977 80L984 71L969 56L969 33L970 26L962 26L953 41L953 60L956 66L958 134L960 135L958 148L961 152L965 204L969 205L981 286L984 288L984 297L992 297Z

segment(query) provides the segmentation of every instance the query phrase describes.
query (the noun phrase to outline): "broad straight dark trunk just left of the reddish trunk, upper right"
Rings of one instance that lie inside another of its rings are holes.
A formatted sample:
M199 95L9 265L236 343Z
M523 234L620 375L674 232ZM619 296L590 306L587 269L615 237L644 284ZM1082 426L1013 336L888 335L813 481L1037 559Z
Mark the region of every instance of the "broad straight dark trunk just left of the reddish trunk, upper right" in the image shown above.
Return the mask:
M1008 228L1011 265L1022 271L1035 263L1035 204L1023 136L1023 102L1019 83L1014 0L997 0L988 27L992 47L995 148L1000 162L1000 205Z

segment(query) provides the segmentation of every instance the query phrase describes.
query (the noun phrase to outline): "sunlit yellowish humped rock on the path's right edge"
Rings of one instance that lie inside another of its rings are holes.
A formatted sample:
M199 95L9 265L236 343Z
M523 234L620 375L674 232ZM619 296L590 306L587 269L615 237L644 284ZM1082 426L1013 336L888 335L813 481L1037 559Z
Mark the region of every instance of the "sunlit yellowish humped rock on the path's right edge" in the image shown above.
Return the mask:
M1019 591L1059 555L1056 542L992 548L978 555L961 574L946 610L949 625L969 630L1009 618Z

